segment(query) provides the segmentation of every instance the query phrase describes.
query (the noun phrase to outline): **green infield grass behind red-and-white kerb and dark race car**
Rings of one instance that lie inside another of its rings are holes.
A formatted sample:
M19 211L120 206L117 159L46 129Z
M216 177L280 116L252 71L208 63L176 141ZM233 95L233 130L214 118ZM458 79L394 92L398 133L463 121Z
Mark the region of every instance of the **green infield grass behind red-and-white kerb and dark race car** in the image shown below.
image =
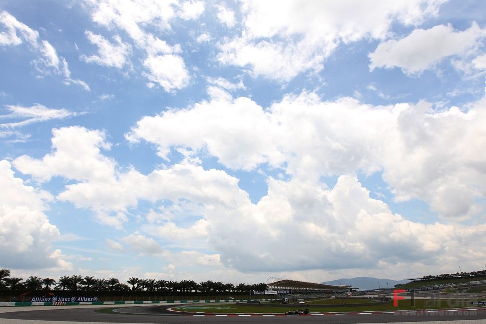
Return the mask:
M398 311L398 310L422 310L422 309L437 309L437 308L457 308L457 307L471 307L469 301L464 300L423 300L416 299L415 306L410 305L410 300L400 300L398 307L393 307L393 304L378 304L372 306L347 306L347 307L312 307L310 312L362 312L362 311ZM202 308L204 307L204 308ZM209 305L202 306L197 309L195 306L181 306L174 308L174 310L189 311L189 312L208 312L208 313L285 313L287 311L295 311L296 309L304 309L306 305L289 305L287 307L275 307L269 304L268 307L238 305L238 304L218 304L212 308ZM221 308L228 307L228 308Z

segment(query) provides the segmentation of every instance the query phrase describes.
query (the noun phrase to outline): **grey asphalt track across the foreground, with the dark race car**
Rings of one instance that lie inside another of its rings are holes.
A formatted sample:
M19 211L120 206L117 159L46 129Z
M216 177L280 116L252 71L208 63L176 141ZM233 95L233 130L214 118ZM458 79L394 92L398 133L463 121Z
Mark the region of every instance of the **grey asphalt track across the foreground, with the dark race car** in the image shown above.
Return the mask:
M20 321L41 320L60 322L103 322L103 323L410 323L453 321L449 323L486 323L486 308L469 308L438 311L413 312L343 312L324 315L223 315L185 314L173 315L165 309L169 306L135 306L116 309L110 314L96 312L99 307L60 308L45 310L12 310L1 313L1 319ZM468 321L476 320L476 321ZM8 322L3 322L8 323ZM33 322L35 323L35 322ZM446 322L448 323L448 322Z

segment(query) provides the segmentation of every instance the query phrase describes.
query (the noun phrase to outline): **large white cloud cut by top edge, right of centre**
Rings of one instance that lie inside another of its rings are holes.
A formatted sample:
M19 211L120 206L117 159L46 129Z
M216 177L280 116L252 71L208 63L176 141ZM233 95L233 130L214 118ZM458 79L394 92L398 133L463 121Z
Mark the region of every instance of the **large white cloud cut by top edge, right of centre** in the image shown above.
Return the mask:
M395 22L417 25L438 1L245 1L240 37L224 40L218 60L254 76L289 81L320 71L340 43L384 39Z

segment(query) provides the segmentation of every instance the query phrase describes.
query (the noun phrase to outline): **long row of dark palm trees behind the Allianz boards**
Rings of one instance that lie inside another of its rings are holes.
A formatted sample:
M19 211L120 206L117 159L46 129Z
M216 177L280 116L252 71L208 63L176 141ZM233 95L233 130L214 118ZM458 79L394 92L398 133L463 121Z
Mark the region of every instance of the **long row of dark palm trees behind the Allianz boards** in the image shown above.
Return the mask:
M128 285L127 285L128 284ZM237 284L223 283L221 281L202 281L196 283L194 280L167 281L155 279L139 279L132 277L127 284L121 283L117 278L95 279L90 276L62 276L58 281L52 278L40 278L30 276L27 280L23 278L10 277L10 270L0 269L0 289L28 289L28 290L89 290L89 291L160 291L160 292L221 292L221 293L246 293L253 291L265 291L267 285L260 284ZM129 286L130 285L130 286Z

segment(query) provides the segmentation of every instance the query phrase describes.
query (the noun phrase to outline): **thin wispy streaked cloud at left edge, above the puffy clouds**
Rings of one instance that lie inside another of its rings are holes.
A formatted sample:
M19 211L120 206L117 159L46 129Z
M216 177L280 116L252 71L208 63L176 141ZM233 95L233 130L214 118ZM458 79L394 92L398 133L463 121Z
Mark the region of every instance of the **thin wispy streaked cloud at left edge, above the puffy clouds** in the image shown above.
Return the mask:
M62 119L71 116L77 116L78 113L70 112L64 108L51 109L44 105L35 104L31 107L7 105L10 111L7 115L0 115L0 119L23 119L20 122L0 123L0 127L21 127L31 123L48 121L51 119Z

